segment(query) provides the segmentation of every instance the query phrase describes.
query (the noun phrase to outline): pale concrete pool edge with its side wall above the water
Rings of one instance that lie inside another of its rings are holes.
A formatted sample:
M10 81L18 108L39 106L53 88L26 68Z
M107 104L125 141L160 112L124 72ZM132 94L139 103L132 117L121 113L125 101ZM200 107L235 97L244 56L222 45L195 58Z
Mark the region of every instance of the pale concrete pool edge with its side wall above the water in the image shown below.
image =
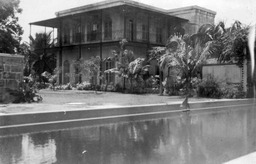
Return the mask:
M137 119L150 119L154 116L178 115L187 112L180 107L181 101L165 102L147 105L100 105L86 106L84 103L52 104L16 104L15 107L40 111L23 111L0 114L0 135L34 131L34 129L53 130L67 127L89 125L94 123L107 123L109 121L131 121ZM202 111L229 110L235 107L252 106L253 99L208 100L189 102L189 113ZM12 105L2 105L8 108ZM49 110L50 108L50 110Z

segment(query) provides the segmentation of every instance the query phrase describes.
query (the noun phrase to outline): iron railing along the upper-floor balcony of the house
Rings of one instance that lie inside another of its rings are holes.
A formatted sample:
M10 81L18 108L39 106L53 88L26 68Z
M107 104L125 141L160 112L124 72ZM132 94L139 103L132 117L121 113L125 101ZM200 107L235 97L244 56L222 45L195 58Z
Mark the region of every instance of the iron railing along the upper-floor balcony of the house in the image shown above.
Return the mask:
M74 44L86 44L86 43L96 43L96 42L107 42L107 41L118 41L123 39L124 30L112 30L105 32L92 31L86 34L75 33L74 35L68 36L64 35L62 37L62 45L74 45ZM160 34L152 34L145 31L131 31L125 30L125 38L128 41L137 41L137 42L149 42L152 44L164 45L168 39L167 36ZM59 38L55 38L54 46L59 45Z

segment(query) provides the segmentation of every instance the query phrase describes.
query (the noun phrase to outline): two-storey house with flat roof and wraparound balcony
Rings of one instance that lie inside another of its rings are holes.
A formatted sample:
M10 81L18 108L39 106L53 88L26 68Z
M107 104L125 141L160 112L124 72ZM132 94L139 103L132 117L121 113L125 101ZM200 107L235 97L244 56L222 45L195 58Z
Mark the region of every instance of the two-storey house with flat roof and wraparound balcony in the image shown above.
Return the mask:
M74 72L72 61L100 56L101 72L115 66L107 59L112 51L120 51L119 42L126 38L125 48L135 57L146 57L148 49L164 46L175 28L183 28L188 34L195 33L205 23L214 23L216 12L199 6L162 9L132 0L106 0L76 8L55 12L56 17L32 22L57 28L54 46L35 49L37 52L56 53L57 67L62 67L58 83L77 83L79 77L69 77ZM54 38L54 36L53 36ZM151 61L149 74L159 74L156 61ZM107 82L119 82L116 74L103 73ZM163 77L168 71L163 71ZM86 75L82 81L89 81ZM97 84L100 80L96 80Z

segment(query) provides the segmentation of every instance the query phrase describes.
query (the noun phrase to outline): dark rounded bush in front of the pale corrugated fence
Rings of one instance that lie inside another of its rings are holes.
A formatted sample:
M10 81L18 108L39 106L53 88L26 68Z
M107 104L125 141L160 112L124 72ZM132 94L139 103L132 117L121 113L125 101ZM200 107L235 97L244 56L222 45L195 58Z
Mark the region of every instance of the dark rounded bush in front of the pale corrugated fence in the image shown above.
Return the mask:
M203 79L197 84L196 93L201 97L220 98L219 83L213 79Z

